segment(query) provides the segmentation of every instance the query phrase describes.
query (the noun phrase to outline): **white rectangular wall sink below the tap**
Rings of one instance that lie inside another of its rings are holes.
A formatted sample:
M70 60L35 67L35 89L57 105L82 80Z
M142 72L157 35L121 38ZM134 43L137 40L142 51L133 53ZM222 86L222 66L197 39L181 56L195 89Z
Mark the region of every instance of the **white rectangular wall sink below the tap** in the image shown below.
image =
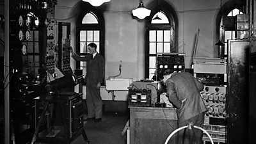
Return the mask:
M106 80L106 90L128 90L128 87L132 84L131 78L116 78Z

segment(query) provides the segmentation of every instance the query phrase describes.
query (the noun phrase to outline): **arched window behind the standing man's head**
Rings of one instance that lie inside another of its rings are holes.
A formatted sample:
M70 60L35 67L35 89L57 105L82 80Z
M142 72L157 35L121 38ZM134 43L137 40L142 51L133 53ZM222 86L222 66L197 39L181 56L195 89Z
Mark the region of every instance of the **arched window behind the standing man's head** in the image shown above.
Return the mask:
M82 13L77 20L77 49L80 56L88 54L87 45L91 42L97 45L97 52L104 56L104 18L102 13L88 10ZM77 69L83 70L86 75L86 62L77 61ZM104 83L104 81L102 81Z

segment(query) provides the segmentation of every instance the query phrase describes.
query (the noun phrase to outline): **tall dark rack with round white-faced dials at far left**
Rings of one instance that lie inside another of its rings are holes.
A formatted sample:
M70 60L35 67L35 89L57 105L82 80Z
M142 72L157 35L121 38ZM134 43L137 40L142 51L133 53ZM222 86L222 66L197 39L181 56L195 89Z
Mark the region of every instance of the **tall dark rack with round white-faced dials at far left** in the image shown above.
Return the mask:
M35 128L33 82L38 76L40 57L35 5L35 1L10 1L10 132L13 143L28 143Z

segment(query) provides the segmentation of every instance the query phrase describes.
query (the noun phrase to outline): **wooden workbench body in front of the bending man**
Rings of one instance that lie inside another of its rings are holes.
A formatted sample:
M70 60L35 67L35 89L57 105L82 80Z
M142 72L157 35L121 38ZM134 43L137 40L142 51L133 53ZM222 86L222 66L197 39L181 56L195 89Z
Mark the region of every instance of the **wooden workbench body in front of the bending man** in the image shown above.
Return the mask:
M129 109L131 144L162 144L178 128L175 108L129 106ZM177 134L169 143L177 143Z

